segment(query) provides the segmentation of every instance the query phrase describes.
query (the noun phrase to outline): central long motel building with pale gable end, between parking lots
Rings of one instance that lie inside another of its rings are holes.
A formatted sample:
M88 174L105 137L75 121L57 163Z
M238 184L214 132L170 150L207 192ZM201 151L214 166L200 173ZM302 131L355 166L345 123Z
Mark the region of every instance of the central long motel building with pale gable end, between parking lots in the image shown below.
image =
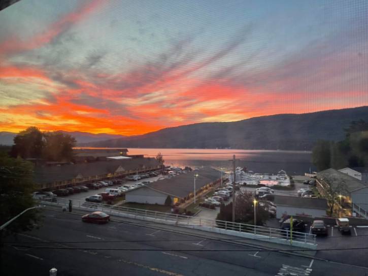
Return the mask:
M221 172L213 168L203 168L184 174L152 182L140 189L126 192L126 202L163 205L168 196L172 202L185 202L194 196L194 175L196 192L199 193L220 182Z

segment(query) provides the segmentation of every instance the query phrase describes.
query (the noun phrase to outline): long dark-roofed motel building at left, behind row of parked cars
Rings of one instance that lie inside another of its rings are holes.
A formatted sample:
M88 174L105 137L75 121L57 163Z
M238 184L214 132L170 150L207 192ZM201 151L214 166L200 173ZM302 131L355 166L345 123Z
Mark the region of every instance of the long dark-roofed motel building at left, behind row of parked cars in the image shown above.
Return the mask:
M106 161L36 166L34 181L40 185L40 189L53 190L160 168L162 165L155 158L108 158Z

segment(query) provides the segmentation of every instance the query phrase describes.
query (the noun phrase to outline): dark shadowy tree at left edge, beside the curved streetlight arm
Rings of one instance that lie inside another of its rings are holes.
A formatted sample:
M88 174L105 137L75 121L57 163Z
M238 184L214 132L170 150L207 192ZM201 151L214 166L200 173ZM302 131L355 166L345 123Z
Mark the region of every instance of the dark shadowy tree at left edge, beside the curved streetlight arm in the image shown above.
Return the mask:
M35 205L31 196L35 190L32 169L30 162L0 155L0 225ZM9 224L2 234L31 230L38 220L38 212L30 210Z

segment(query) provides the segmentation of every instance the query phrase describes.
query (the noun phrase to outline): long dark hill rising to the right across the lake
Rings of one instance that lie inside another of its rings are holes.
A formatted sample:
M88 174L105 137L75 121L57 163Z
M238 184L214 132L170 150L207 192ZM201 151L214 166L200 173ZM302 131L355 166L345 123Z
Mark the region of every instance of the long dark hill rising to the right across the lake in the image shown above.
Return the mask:
M319 139L342 140L344 128L359 119L368 121L368 107L262 116L237 122L197 123L83 146L311 150Z

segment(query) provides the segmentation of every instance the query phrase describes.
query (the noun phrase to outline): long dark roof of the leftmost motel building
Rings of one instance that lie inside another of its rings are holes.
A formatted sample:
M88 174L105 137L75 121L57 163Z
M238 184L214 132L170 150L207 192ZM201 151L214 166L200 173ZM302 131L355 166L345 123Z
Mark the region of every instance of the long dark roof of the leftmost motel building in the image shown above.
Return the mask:
M123 170L157 168L159 163L155 158L132 158L123 160L96 161L60 166L36 166L34 180L38 184L54 183L72 180L78 175L93 177L113 174L119 167Z

